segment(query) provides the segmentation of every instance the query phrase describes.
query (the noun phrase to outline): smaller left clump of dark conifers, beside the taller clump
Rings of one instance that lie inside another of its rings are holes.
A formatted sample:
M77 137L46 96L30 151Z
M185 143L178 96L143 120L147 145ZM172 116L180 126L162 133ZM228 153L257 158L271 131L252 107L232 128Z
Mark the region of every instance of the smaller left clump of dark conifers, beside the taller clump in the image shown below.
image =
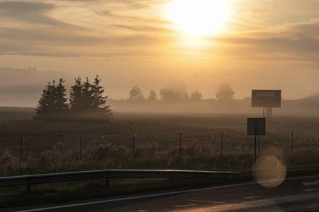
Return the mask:
M48 116L53 118L53 116L65 114L69 110L66 98L67 90L63 83L65 81L62 78L60 78L58 85L55 85L55 81L52 85L47 83L35 109L37 118Z

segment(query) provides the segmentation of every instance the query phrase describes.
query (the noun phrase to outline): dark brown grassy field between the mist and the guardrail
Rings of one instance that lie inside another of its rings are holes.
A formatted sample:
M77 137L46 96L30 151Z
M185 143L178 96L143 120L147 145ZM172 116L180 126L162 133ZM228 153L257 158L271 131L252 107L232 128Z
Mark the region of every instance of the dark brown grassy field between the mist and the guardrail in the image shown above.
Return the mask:
M103 124L35 121L33 114L33 108L0 107L1 177L99 169L250 175L254 163L254 136L247 136L245 115L115 113L111 124ZM279 153L289 175L318 172L318 126L318 118L273 117L267 136L259 137L257 157ZM117 192L127 183L116 182ZM19 191L6 188L2 194Z

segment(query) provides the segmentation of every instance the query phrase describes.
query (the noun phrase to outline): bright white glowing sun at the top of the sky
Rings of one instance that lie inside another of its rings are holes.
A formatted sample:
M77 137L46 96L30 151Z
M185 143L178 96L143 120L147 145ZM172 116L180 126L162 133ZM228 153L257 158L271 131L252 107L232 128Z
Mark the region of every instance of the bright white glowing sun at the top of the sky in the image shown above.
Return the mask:
M228 16L228 1L174 0L167 4L166 16L179 31L210 36L223 28Z

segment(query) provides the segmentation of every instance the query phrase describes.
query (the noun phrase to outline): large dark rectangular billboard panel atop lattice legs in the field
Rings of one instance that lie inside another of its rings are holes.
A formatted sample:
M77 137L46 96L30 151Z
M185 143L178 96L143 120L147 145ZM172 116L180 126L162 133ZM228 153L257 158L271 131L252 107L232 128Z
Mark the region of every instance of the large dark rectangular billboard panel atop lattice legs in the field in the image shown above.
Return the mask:
M281 90L252 90L252 107L281 107Z

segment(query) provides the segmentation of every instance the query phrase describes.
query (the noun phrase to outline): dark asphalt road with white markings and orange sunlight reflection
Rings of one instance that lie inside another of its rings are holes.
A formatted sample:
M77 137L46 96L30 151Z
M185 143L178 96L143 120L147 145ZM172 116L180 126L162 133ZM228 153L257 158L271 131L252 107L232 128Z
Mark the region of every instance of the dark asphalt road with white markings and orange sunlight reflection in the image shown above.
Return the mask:
M319 175L285 179L274 188L247 182L33 211L319 211Z

